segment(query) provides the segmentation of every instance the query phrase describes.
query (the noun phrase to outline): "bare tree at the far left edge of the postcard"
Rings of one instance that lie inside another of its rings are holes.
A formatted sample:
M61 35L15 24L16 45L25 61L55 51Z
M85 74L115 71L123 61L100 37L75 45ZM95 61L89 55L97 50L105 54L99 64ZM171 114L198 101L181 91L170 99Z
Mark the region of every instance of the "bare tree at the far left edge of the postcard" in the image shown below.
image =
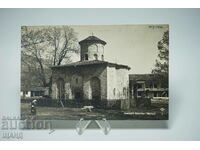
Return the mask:
M47 86L42 53L45 49L45 36L41 29L22 27L21 29L21 60L22 65L28 66L37 75L43 86ZM22 70L23 71L23 70Z

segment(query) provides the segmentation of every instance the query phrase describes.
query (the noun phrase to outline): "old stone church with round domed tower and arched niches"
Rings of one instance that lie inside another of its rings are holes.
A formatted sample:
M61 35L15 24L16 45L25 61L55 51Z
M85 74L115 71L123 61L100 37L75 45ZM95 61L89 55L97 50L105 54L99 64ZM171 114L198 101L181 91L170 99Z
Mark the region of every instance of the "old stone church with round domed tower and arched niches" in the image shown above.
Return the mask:
M128 99L130 67L104 60L106 42L95 36L79 44L80 61L51 68L52 98L107 102Z

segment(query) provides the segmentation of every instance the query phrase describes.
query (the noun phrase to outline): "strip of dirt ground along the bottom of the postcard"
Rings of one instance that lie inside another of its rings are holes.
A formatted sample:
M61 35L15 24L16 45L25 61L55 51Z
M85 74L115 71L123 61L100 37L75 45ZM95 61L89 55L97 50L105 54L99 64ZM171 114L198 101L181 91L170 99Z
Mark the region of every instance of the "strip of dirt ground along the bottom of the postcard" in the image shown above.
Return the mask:
M160 108L143 108L131 109L129 111L120 110L104 110L93 109L91 112L82 110L81 108L67 108L67 107L36 107L36 115L30 113L30 103L21 103L21 118L24 119L38 119L38 120L79 120L84 119L102 119L108 120L166 120L168 113L161 115ZM165 111L167 112L167 110Z

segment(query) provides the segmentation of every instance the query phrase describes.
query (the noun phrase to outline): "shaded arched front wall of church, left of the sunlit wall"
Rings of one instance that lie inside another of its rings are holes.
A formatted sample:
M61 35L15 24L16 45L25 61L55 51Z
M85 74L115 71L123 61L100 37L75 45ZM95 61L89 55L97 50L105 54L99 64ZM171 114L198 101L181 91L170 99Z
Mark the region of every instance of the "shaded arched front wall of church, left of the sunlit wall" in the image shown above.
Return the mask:
M60 78L65 84L65 99L75 99L80 92L82 99L92 99L91 78L100 79L101 99L107 98L107 70L105 65L54 68L52 81L52 98L58 99L56 81Z

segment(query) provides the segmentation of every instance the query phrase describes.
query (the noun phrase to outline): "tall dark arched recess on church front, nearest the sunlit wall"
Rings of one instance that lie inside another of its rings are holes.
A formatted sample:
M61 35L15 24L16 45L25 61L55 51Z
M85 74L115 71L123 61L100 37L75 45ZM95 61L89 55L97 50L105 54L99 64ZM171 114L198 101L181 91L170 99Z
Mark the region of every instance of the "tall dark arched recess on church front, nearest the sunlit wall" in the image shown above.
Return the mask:
M92 100L101 100L101 82L97 77L91 79Z

